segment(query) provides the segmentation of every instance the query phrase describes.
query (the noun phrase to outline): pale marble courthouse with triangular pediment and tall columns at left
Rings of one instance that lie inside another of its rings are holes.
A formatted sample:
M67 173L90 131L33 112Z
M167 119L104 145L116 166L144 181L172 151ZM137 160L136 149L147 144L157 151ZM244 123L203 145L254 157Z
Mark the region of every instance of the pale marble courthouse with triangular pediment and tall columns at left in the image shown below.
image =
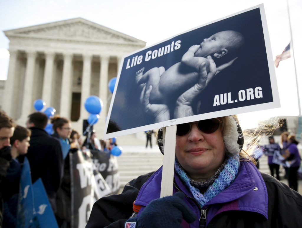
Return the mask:
M45 107L54 107L82 131L88 117L85 99L96 95L104 103L95 124L101 138L111 101L108 82L117 76L121 57L146 42L83 18L4 33L10 40L10 59L2 109L24 126L35 111L33 102L43 99Z

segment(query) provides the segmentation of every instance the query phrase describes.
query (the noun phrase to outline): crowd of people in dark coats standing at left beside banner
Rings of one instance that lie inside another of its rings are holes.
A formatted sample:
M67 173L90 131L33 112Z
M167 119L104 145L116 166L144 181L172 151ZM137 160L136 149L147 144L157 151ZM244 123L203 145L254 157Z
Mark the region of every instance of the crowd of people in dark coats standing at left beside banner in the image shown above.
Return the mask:
M87 133L82 143L71 121L60 116L51 118L54 133L49 135L44 130L48 122L46 114L34 112L28 116L26 127L22 127L0 110L0 227L17 225L18 193L25 158L30 164L32 183L39 178L43 182L58 226L70 227L68 153L86 148L110 151L109 148L116 145L115 139L114 143L98 140L95 131L91 135Z

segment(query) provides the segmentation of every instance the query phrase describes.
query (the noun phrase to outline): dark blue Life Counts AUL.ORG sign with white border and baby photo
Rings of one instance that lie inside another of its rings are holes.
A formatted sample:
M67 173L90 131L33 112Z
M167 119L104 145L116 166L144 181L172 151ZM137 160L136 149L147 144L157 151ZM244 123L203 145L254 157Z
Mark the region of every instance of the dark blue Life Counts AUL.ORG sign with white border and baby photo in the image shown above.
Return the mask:
M155 129L163 126L159 123L173 125L170 120L212 112L217 117L226 110L246 112L238 110L242 107L256 111L265 103L278 107L261 7L125 56L105 135Z

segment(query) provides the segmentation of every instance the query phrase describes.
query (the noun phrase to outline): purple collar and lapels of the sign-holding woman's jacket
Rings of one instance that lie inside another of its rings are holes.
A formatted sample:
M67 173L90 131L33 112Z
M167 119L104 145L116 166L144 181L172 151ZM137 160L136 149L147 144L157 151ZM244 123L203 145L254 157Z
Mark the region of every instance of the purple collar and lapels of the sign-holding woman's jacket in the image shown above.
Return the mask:
M191 192L182 184L182 181L174 173L175 183L187 196L193 197ZM158 169L142 186L135 204L142 205L138 216L143 209L155 198L160 197L160 185L162 178L162 167ZM175 185L173 194L176 192ZM200 217L201 212L197 204L190 198L185 197L184 201ZM209 207L210 206L210 207ZM268 219L268 193L265 182L258 169L250 162L240 162L239 172L234 182L224 191L217 194L214 198L207 202L202 209L207 210L206 225L217 214L229 210L245 210L262 214ZM199 221L196 220L188 226L188 223L183 220L183 227L199 227Z

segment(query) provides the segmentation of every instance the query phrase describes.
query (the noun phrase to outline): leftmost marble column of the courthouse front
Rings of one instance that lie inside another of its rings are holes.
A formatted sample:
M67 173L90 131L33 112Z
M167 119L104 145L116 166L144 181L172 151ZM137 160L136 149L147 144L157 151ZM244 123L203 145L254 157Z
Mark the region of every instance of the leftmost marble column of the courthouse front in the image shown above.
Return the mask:
M14 82L17 68L17 50L9 50L9 65L8 65L8 74L7 80L5 82L4 96L2 101L2 109L12 117L12 104L13 104L13 95L14 95Z

